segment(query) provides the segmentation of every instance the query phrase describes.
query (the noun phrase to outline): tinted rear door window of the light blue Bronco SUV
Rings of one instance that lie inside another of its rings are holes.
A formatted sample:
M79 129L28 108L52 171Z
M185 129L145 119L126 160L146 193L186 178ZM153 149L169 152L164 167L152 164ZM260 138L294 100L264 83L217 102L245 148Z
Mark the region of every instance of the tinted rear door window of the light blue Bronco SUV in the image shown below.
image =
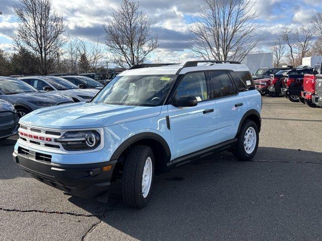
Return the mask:
M226 71L209 71L212 98L237 93Z

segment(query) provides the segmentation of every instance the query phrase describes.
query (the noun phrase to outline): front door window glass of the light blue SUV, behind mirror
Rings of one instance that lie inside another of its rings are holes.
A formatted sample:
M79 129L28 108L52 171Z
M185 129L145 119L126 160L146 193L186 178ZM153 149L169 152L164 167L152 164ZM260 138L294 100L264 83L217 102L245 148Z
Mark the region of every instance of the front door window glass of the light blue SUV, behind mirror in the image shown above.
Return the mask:
M199 101L208 99L207 82L204 72L186 74L177 89L177 98L192 94Z

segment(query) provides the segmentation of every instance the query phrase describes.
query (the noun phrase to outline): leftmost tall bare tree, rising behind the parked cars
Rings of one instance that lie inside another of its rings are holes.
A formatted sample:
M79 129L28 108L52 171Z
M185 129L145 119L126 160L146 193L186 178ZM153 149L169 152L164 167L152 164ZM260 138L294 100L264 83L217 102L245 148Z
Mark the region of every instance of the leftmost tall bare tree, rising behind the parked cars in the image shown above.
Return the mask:
M24 47L37 58L40 74L46 75L56 53L64 44L62 17L51 6L50 0L19 0L14 6L18 27L13 36L17 49Z

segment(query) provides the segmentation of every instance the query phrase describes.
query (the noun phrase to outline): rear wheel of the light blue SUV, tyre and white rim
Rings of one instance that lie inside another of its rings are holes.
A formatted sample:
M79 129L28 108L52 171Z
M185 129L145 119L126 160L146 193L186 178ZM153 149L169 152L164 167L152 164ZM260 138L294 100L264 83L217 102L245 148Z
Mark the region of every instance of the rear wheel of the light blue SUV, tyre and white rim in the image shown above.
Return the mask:
M257 152L258 142L258 127L255 122L247 119L240 128L237 146L233 152L234 157L241 161L251 160Z

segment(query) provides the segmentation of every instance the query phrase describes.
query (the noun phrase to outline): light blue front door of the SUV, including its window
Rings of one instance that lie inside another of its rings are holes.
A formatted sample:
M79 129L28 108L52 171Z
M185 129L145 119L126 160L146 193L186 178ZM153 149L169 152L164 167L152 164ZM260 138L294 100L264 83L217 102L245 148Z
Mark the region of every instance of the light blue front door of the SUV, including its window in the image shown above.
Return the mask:
M209 100L205 72L187 73L181 79L176 97L192 94L193 107L168 105L172 138L172 159L202 150L216 143L216 105Z

